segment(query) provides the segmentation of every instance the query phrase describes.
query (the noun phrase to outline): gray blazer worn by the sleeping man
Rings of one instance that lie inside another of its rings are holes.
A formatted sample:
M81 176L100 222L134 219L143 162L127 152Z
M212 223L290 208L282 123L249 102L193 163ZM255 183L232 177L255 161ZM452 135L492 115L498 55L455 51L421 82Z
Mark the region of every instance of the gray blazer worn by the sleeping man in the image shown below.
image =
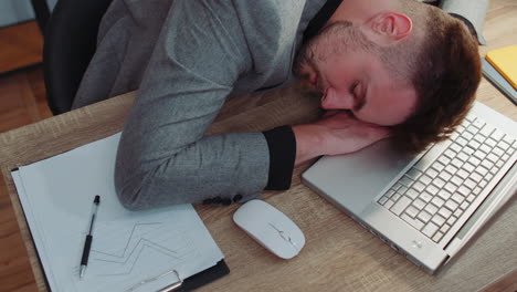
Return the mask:
M229 95L293 81L303 31L324 3L114 0L74 107L139 88L115 171L127 208L260 196L264 135L204 133Z

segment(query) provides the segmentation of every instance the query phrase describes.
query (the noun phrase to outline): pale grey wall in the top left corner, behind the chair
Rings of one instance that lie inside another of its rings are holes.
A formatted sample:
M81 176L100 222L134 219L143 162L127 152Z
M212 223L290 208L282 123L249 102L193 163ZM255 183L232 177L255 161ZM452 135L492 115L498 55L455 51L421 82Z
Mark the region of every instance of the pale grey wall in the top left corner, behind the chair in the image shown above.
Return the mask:
M46 0L51 10L56 2L57 0ZM32 19L34 19L34 10L30 0L0 0L0 28Z

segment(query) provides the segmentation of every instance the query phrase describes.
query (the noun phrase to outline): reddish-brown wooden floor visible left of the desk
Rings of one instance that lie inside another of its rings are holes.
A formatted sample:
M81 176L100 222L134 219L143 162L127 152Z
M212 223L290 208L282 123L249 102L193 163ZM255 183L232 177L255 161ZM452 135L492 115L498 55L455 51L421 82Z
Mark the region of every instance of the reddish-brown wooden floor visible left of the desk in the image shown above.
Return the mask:
M41 65L42 36L35 22L0 30L0 133L52 116L46 106ZM0 181L0 291L35 291L18 222Z

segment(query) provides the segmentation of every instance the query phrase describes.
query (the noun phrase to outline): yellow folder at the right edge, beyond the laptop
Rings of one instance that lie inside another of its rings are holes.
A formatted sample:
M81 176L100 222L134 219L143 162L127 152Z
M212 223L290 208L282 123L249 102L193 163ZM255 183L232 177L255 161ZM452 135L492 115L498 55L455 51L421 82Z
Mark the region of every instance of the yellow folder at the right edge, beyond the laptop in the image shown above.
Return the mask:
M517 90L517 45L492 50L486 60Z

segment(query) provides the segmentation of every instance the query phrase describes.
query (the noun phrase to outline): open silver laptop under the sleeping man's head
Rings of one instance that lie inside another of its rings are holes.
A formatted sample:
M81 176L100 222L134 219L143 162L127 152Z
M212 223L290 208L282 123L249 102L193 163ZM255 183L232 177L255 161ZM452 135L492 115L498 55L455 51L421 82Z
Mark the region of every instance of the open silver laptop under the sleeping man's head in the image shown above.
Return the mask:
M452 137L418 155L389 139L324 156L303 175L414 264L434 274L517 194L517 123L475 102Z

